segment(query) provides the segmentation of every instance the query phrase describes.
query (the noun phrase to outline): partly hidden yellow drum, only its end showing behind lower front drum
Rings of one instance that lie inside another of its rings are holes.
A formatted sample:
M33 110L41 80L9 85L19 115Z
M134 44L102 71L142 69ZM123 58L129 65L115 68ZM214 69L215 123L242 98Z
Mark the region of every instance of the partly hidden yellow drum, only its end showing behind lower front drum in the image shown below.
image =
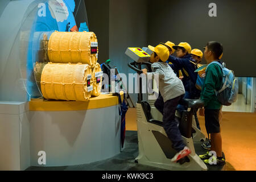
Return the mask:
M92 69L92 96L99 96L101 94L102 76L101 65L96 63L95 67Z

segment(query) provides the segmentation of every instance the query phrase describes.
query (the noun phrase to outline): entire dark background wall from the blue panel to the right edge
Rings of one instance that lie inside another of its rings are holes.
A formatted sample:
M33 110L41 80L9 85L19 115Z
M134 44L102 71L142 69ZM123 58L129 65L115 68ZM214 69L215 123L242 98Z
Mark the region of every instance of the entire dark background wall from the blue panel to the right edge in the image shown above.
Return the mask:
M209 17L209 3L217 17ZM112 59L129 73L127 47L170 40L203 47L210 40L224 46L223 60L236 76L256 77L256 1L254 0L85 0L89 30L99 42L99 63Z

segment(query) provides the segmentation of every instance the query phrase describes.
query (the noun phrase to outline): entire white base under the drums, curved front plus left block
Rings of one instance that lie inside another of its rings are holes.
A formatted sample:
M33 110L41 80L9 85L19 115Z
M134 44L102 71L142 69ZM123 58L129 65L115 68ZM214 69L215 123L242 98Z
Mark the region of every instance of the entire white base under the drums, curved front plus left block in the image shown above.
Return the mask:
M28 111L26 104L0 103L0 170L88 164L121 151L118 105L80 111ZM43 156L40 151L46 154L46 164L38 162Z

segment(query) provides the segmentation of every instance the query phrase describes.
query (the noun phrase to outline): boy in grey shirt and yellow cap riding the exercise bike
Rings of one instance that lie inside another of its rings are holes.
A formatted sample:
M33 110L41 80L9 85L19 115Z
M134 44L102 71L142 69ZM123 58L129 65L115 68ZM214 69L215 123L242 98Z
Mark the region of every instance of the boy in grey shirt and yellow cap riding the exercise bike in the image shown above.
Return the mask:
M176 76L172 68L165 63L170 55L166 46L159 44L156 47L148 46L153 52L150 61L152 73L159 76L159 97L155 101L155 107L163 114L163 127L168 138L172 141L172 147L177 151L172 162L189 155L191 150L185 146L180 134L177 120L175 119L176 107L184 97L185 89L182 81ZM147 74L147 69L142 69Z

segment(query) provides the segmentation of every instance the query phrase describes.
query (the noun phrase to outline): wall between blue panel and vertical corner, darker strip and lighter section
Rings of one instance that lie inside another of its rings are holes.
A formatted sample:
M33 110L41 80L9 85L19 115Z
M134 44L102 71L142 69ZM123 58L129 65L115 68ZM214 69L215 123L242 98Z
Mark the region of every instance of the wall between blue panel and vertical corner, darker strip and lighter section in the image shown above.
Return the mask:
M85 0L89 31L96 33L98 63L111 59L120 73L135 73L127 67L127 47L147 46L147 0ZM134 86L133 86L134 88ZM130 94L137 101L137 94Z

